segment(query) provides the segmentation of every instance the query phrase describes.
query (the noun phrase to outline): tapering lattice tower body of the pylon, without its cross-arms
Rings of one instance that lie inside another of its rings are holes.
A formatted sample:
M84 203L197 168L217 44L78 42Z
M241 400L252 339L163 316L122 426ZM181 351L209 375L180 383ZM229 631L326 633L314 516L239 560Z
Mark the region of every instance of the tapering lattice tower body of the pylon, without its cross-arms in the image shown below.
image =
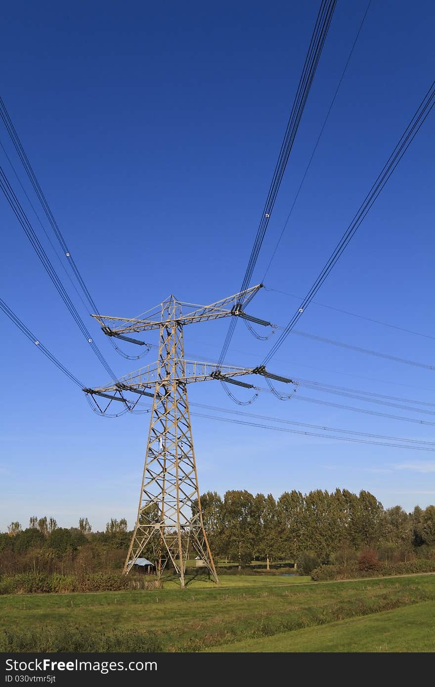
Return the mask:
M153 545L157 576L172 562L184 586L192 543L217 582L205 534L190 425L183 328L173 297L163 304L157 381L153 398L144 475L133 539L124 572L129 572L148 543ZM194 504L196 499L197 505Z

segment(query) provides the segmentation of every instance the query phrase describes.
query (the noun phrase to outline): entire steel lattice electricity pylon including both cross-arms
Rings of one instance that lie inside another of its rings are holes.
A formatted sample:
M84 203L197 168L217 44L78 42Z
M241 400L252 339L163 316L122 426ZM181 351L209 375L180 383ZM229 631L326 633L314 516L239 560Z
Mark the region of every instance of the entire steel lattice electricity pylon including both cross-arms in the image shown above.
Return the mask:
M121 401L129 409L131 406L126 392L153 398L139 508L124 574L129 573L144 548L148 547L153 549L157 578L161 577L170 561L179 575L181 587L184 587L186 559L192 545L208 567L213 580L218 581L201 512L187 385L219 379L252 389L254 385L234 379L247 374L261 374L285 382L291 380L269 374L264 367L220 365L218 368L213 363L188 361L184 357L183 327L221 317L243 317L250 322L270 326L270 322L247 315L243 310L261 286L263 284L252 286L208 306L196 306L186 315L183 315L181 308L191 307L191 304L184 304L173 295L159 305L159 311L150 315L150 318L154 318L159 313L159 319L93 315L106 335L140 345L144 345L144 342L127 335L159 330L159 356L156 363L105 387L84 389L93 397L109 399L108 405L111 401Z

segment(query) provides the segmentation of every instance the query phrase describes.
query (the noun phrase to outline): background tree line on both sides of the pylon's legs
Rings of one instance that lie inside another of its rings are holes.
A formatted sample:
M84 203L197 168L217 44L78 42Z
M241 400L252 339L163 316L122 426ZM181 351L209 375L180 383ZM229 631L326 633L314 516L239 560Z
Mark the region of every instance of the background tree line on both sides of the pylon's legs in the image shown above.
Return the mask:
M388 561L432 556L435 552L435 506L384 509L368 491L346 489L253 495L227 491L201 497L205 530L216 561L241 567L253 559L271 563L346 561L353 552L372 548ZM197 504L194 504L197 508ZM31 517L23 530L11 523L0 534L0 572L115 570L122 567L131 532L125 518L112 518L105 532L92 532L86 517L78 527L61 528L54 518ZM153 559L152 550L143 555ZM194 556L194 552L191 552Z

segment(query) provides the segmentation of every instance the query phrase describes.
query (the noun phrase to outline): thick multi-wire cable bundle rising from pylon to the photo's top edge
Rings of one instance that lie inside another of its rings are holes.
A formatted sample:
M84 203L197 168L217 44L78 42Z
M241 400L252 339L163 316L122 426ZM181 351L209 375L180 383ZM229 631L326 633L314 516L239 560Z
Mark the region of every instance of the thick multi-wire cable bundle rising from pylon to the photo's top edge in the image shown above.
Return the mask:
M315 22L315 27L313 34L311 36L311 41L309 44L309 49L305 57L304 67L302 69L302 75L298 84L298 89L296 91L295 99L293 101L293 106L291 108L291 113L289 121L287 122L287 128L285 131L284 139L282 139L281 149L278 156L278 161L274 170L274 175L269 186L269 192L267 194L267 199L265 207L263 209L263 214L258 225L256 238L254 240L254 246L252 247L251 254L247 263L245 276L243 277L243 282L240 291L245 291L249 282L252 278L252 273L254 272L254 267L258 260L258 255L260 254L261 246L263 245L263 240L269 225L269 218L271 212L274 209L274 204L276 201L276 196L280 188L282 177L284 177L285 168L289 160L289 155L291 153L291 148L293 147L293 142L295 140L295 135L298 131L300 120L302 118L302 113L304 111L304 106L306 99L308 98L309 91L311 89L311 84L315 75L315 70L320 59L320 54L322 53L322 48L328 32L329 25L331 23L331 18L333 11L335 9L336 0L322 0L319 12L317 14L317 19ZM230 320L230 326L223 343L223 348L221 355L219 356L218 368L222 365L227 353L228 346L230 346L230 341L234 333L234 328L236 327L236 317L232 317Z

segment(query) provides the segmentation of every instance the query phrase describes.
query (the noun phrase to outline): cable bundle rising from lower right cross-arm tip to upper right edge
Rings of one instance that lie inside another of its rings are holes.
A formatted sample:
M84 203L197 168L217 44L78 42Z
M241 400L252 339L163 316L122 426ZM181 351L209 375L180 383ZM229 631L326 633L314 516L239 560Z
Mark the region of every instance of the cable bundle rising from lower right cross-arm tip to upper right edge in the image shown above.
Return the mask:
M408 126L405 128L405 131L403 132L403 135L399 139L399 142L397 143L397 146L394 148L392 154L386 161L386 164L383 166L381 172L379 173L379 176L377 177L375 183L372 185L372 188L366 195L366 198L364 199L363 203L359 207L359 210L355 214L353 220L351 221L350 225L346 229L346 232L344 232L342 238L339 240L339 243L335 247L333 253L331 256L328 258L328 261L324 265L322 271L320 274L317 276L317 279L311 286L311 289L308 291L304 299L302 300L300 307L298 308L298 311L295 312L285 329L283 330L282 334L278 338L278 340L274 343L274 346L272 346L271 350L267 353L265 356L265 359L263 360L263 365L267 365L269 361L274 357L280 346L282 346L282 343L284 343L285 339L287 339L287 336L295 326L296 322L298 322L298 319L301 317L302 313L304 313L305 309L311 301L313 300L315 294L317 291L320 289L320 286L322 286L324 280L328 277L329 273L337 263L337 260L342 256L344 250L350 243L350 240L355 236L355 233L357 232L357 229L361 225L362 221L368 214L370 208L372 207L373 203L375 203L377 197L383 190L384 186L386 185L388 179L390 179L390 176L392 172L394 172L394 169L397 167L399 162L401 161L401 158L405 154L406 150L408 150L408 147L412 143L412 140L418 133L420 127L422 126L423 122L425 122L427 116L429 115L430 111L432 110L433 106L435 104L435 81L432 82L432 85L430 86L430 89L427 91L425 94L423 100L419 104L419 107L416 110L416 113L410 120Z

